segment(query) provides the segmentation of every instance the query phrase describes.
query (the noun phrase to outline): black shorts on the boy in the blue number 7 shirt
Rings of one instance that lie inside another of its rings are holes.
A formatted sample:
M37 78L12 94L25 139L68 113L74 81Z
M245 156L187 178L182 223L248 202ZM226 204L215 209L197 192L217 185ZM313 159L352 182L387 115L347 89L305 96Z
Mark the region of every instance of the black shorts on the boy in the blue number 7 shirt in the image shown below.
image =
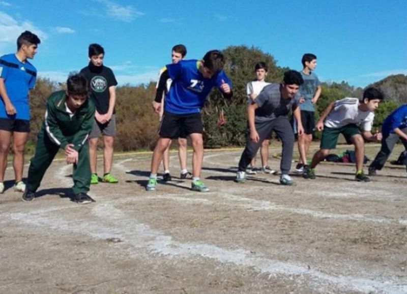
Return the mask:
M200 113L174 114L164 112L158 134L162 138L186 138L190 134L202 134L203 125ZM185 136L185 137L182 137Z

